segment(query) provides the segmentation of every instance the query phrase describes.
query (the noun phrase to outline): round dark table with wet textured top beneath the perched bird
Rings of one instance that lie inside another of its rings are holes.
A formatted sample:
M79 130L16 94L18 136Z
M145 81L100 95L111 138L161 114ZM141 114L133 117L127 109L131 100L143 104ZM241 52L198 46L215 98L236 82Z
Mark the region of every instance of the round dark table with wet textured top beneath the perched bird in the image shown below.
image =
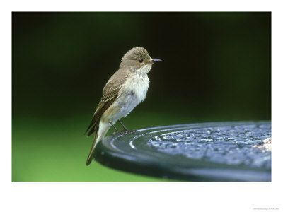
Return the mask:
M271 122L139 129L98 143L95 160L118 170L185 181L271 181Z

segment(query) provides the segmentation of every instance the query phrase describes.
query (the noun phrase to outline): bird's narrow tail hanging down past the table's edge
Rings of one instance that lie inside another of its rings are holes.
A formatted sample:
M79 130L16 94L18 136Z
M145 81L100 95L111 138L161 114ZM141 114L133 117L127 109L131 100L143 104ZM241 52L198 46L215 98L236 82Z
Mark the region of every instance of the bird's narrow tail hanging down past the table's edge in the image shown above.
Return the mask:
M94 136L93 145L91 146L91 152L88 155L88 160L86 160L86 165L91 164L91 161L93 160L93 151L96 148L96 144L104 138L110 126L111 125L108 122L99 122L99 124L96 124L96 136Z

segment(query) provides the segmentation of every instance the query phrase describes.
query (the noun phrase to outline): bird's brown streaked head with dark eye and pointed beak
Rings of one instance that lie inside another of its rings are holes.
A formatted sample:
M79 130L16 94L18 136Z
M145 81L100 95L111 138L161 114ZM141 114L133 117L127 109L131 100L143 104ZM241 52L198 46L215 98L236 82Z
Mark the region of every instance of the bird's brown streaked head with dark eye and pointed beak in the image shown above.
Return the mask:
M152 64L161 59L152 59L143 47L134 47L122 57L120 69L130 69L137 73L149 73Z

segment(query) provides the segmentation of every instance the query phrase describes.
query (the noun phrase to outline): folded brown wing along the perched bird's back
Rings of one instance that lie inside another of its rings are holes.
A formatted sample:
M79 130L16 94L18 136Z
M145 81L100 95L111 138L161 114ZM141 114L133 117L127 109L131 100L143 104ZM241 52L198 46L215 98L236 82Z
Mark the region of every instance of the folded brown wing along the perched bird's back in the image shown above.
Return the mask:
M110 105L112 105L113 102L115 102L118 95L120 95L120 88L126 78L127 73L125 73L125 71L119 70L106 83L105 87L103 88L103 97L98 103L98 107L96 108L96 112L93 115L91 124L88 126L88 129L86 129L86 132L88 132L88 136L90 136L91 134L93 134L94 131L96 131L96 127L99 124L100 118L102 117L103 113L105 112L105 110L108 109L108 107L110 107Z

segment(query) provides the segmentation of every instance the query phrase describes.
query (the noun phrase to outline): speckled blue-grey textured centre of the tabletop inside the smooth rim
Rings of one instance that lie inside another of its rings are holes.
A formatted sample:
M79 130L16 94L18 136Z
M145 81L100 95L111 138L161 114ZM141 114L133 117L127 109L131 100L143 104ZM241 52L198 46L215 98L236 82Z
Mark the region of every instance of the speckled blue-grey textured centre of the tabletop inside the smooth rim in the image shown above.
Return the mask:
M147 145L169 155L228 165L271 167L271 151L255 148L271 137L271 124L209 127L161 134Z

